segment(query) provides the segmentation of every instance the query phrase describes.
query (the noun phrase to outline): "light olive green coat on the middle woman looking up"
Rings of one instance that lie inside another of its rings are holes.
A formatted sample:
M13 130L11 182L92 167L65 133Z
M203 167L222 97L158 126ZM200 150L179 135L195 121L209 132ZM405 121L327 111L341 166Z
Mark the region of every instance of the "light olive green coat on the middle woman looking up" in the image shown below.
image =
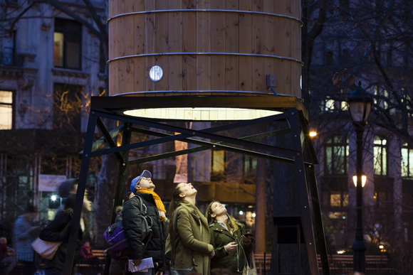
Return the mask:
M210 257L214 247L209 244L209 228L206 217L191 203L183 202L174 212L177 216L177 236L175 237L176 256L174 268L185 269L192 266L197 272L210 274ZM174 222L174 217L170 222ZM172 224L174 227L175 223ZM169 236L172 242L172 236ZM171 250L172 244L167 242L166 252Z

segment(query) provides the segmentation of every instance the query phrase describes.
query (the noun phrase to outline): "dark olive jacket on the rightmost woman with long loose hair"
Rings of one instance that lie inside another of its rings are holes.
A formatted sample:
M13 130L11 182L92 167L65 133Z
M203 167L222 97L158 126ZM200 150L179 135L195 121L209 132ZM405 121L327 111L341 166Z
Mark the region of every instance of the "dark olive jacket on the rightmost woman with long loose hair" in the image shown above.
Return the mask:
M211 234L210 242L214 246L215 251L215 256L211 261L211 269L229 269L232 274L240 274L244 270L246 254L251 253L253 242L244 244L241 236L246 234L245 225L239 220L237 220L236 223L238 230L236 230L234 234L231 234L231 232L226 230L218 222L213 222L209 225L209 233ZM224 246L229 242L236 242L236 244L238 244L236 251L226 252Z

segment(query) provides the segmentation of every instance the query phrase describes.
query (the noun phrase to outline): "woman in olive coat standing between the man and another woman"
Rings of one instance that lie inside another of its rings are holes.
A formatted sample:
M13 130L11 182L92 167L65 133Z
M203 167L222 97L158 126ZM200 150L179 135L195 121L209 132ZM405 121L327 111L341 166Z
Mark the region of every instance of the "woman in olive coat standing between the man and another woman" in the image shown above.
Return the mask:
M171 259L169 274L210 274L214 247L209 244L208 221L195 206L196 198L197 189L191 183L179 183L172 193L166 249Z

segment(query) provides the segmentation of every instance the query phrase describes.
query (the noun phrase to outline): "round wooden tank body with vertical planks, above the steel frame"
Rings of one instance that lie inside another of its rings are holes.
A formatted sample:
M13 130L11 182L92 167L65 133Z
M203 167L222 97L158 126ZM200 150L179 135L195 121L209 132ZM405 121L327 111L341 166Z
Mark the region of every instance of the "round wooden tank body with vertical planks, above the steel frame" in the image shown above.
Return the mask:
M110 0L109 16L109 95L272 93L275 75L301 96L300 0Z

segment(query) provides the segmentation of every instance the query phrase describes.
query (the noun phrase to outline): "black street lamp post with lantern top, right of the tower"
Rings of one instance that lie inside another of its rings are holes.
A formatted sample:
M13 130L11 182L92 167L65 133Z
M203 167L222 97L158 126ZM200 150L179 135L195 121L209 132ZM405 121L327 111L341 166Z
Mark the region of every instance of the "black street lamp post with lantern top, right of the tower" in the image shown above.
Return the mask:
M370 115L372 107L372 99L365 90L357 87L350 97L347 98L348 109L352 118L353 125L356 132L357 144L357 162L356 162L356 205L357 205L357 227L355 230L355 241L352 244L353 250L353 269L357 272L365 273L365 241L362 231L362 139L365 131L365 124Z

